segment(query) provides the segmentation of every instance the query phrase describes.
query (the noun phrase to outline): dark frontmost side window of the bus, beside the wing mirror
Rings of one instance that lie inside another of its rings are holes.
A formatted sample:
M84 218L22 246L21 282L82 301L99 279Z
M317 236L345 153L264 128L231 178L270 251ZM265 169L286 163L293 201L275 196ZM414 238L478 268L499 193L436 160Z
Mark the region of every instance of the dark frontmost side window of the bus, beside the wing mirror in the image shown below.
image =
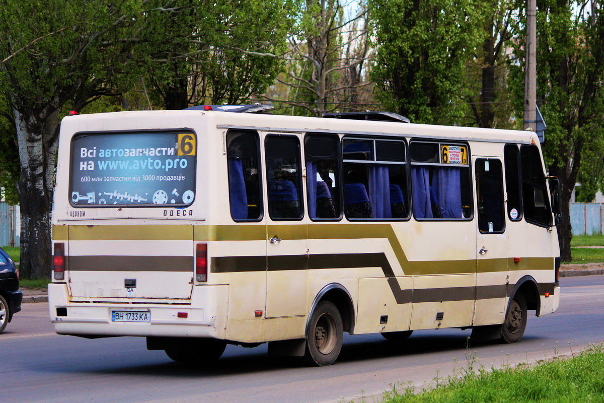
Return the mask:
M520 147L522 162L522 204L526 221L549 227L551 210L541 155L537 146Z

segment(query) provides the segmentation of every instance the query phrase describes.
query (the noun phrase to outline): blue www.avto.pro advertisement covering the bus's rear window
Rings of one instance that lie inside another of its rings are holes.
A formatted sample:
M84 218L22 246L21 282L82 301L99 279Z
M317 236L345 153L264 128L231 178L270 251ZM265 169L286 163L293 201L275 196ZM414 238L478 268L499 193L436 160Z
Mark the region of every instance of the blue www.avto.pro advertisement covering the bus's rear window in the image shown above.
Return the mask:
M185 131L79 135L71 146L71 205L190 205L196 150L195 135Z

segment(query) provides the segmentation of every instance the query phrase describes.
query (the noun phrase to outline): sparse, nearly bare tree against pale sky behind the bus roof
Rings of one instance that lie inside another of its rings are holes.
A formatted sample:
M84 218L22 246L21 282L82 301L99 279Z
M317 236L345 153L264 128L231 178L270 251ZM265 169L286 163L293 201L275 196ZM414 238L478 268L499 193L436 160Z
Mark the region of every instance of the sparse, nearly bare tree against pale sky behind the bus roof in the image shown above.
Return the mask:
M367 8L361 4L349 17L350 10L339 0L307 0L300 33L289 40L288 71L277 78L286 94L263 99L311 116L367 109Z

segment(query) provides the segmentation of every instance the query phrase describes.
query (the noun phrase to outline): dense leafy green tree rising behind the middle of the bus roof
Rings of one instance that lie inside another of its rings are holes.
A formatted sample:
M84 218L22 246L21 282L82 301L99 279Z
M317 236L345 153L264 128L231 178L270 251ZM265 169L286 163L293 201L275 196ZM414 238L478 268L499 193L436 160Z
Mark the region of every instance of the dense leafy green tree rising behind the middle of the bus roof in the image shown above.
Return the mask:
M489 5L477 0L369 0L368 5L377 46L371 77L385 109L414 123L458 120L464 113L463 69L480 44Z

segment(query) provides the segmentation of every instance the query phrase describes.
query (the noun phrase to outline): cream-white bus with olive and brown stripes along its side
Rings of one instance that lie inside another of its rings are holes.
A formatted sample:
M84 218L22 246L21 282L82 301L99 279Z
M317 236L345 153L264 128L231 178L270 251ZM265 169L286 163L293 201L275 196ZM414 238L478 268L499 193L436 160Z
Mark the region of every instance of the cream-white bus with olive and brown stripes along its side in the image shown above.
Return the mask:
M63 119L58 334L199 364L269 343L321 366L344 332L514 343L527 310L556 311L555 181L533 132L266 109Z

